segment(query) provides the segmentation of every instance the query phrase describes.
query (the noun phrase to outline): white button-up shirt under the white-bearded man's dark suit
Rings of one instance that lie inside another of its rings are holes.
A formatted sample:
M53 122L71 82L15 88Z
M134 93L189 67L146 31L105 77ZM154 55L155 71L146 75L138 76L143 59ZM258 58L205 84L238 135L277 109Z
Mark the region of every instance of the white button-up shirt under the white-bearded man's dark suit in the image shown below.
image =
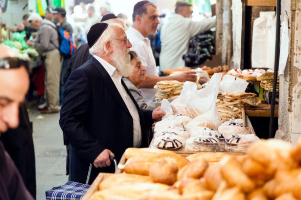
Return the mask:
M102 59L97 55L93 55L105 68L108 72L110 77L112 78L119 94L121 95L130 115L133 118L133 147L139 147L141 144L141 126L140 126L140 118L138 114L138 110L134 104L134 102L129 97L128 93L126 92L125 88L121 83L122 76L118 73L117 69L112 66L110 63Z

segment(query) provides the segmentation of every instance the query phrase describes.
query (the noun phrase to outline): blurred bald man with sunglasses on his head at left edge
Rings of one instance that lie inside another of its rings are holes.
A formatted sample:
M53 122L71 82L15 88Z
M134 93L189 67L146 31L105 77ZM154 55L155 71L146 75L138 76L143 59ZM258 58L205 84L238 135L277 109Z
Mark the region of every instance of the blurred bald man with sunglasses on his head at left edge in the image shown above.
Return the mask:
M0 44L0 135L19 125L19 106L29 89L28 66ZM0 199L34 199L0 141Z

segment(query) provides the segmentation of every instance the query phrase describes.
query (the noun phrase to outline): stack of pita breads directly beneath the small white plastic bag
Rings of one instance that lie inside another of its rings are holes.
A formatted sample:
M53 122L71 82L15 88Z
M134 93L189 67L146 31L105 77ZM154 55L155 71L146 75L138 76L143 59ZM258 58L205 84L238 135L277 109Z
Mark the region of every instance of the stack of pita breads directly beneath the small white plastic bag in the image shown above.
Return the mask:
M261 104L261 100L255 93L239 92L224 93L224 103L233 105L234 107L257 106Z

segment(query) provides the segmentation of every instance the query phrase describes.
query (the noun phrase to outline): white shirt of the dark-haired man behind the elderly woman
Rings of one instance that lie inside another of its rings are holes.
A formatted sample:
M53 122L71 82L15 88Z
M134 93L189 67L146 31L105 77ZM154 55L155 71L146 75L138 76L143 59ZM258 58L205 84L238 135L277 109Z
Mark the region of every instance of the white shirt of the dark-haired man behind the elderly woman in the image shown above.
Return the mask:
M133 50L137 53L142 65L146 68L146 74L159 76L149 39L144 37L137 29L133 27L129 27L125 33L132 44L130 50ZM140 91L146 103L155 101L155 94L157 92L156 89L141 88Z

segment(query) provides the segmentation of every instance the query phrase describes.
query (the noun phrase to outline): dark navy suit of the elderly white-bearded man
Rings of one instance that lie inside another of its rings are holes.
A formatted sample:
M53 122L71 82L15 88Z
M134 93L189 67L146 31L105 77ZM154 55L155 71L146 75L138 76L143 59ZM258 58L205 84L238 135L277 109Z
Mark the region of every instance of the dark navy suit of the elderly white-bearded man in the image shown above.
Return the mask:
M138 109L142 134L140 147L146 147L146 127L152 126L152 111L141 111L123 80L121 82ZM105 148L111 150L119 161L124 150L133 146L132 117L111 77L96 58L91 57L69 76L60 126L73 149L70 163L72 181L84 183L89 164ZM97 169L93 166L90 183L99 172L113 171L113 164Z

